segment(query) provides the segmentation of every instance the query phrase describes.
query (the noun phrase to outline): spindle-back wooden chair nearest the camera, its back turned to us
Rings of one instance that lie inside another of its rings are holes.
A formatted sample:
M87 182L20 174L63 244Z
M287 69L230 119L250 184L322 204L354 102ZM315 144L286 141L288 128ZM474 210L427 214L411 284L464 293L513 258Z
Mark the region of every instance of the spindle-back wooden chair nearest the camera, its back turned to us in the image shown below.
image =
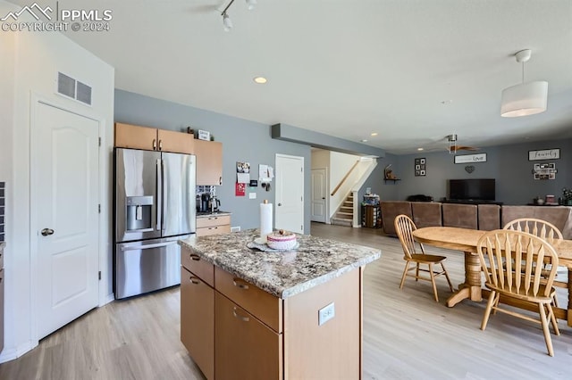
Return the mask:
M486 328L491 310L531 320L543 326L544 340L549 355L554 356L548 321L551 321L556 335L559 335L556 318L551 308L556 290L552 287L558 268L558 254L549 242L541 237L522 231L497 229L487 232L476 246L485 286L491 290L481 329ZM549 269L543 269L543 262L550 262ZM547 270L547 276L543 271ZM532 302L537 305L540 319L531 318L514 310L499 306L500 297L517 300L526 307Z

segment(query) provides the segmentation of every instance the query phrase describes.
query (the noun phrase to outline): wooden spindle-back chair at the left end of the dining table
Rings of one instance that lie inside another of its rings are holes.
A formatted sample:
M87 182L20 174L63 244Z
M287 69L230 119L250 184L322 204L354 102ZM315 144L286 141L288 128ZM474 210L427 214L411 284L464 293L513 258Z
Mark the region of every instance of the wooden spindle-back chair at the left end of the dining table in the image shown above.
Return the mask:
M439 302L435 277L444 275L447 278L447 282L449 283L450 291L453 292L453 285L450 283L449 274L443 265L443 261L447 258L445 256L427 254L423 244L416 242L416 240L413 238L413 231L415 231L417 227L413 220L407 215L401 214L393 220L393 225L398 237L400 238L401 247L403 248L403 260L406 261L405 268L403 269L403 275L401 276L400 289L403 288L406 277L415 277L416 281L431 281L433 285L433 295L435 297L435 301ZM434 269L433 265L435 264L441 265L442 270ZM427 268L423 268L421 265L426 265ZM409 274L409 272L412 270L415 270L415 274ZM420 276L419 272L428 273L429 277Z

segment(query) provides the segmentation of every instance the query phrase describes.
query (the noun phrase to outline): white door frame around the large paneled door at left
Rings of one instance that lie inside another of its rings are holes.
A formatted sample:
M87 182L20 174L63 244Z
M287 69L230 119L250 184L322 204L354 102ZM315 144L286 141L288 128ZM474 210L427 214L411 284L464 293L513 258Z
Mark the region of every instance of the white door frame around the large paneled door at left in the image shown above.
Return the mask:
M38 161L38 140L34 138L37 135L39 123L38 123L38 106L40 103L46 104L50 107L55 107L57 109L62 110L63 112L70 112L76 115L79 115L83 118L90 119L97 121L99 125L98 135L102 136L102 144L100 145L100 149L98 152L98 184L97 184L97 193L98 193L98 202L101 204L102 199L102 191L104 189L101 188L104 181L102 177L105 175L105 169L102 169L101 162L102 162L102 152L101 146L103 144L103 136L104 135L104 126L105 126L105 119L98 117L94 112L87 112L88 110L72 110L69 107L66 107L62 104L56 103L52 100L48 100L46 97L39 95L37 93L32 92L30 95L30 103L29 103L29 300L30 304L30 336L32 339L31 348L36 347L38 345L38 293L36 292L38 289L38 230L39 230L39 223L38 223L38 211L35 207L35 202L38 199L38 186L33 186L35 183L38 182L38 172L35 167L35 162ZM102 226L103 225L103 226ZM97 236L97 252L98 252L98 265L99 270L101 270L102 264L102 257L105 255L105 250L102 247L105 247L105 244L101 242L102 236L102 228L111 228L106 224L105 221L101 219L101 213L99 214L99 222L98 222L98 236ZM102 305L102 283L104 281L99 281L97 286L98 291L98 300L99 305Z

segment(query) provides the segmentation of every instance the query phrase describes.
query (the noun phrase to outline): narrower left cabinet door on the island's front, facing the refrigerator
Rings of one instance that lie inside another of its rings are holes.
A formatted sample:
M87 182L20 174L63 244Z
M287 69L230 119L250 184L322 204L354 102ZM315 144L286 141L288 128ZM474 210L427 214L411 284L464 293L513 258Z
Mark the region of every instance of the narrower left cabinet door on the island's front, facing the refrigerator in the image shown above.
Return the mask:
M214 379L214 289L183 267L181 342L206 378Z

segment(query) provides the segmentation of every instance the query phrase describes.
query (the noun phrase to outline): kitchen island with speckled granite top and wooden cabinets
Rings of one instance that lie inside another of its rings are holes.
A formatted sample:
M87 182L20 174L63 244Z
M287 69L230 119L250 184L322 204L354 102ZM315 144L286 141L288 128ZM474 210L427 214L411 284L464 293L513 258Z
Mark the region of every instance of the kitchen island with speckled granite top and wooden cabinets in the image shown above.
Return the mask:
M181 342L209 379L361 378L362 280L381 252L257 230L181 240Z

